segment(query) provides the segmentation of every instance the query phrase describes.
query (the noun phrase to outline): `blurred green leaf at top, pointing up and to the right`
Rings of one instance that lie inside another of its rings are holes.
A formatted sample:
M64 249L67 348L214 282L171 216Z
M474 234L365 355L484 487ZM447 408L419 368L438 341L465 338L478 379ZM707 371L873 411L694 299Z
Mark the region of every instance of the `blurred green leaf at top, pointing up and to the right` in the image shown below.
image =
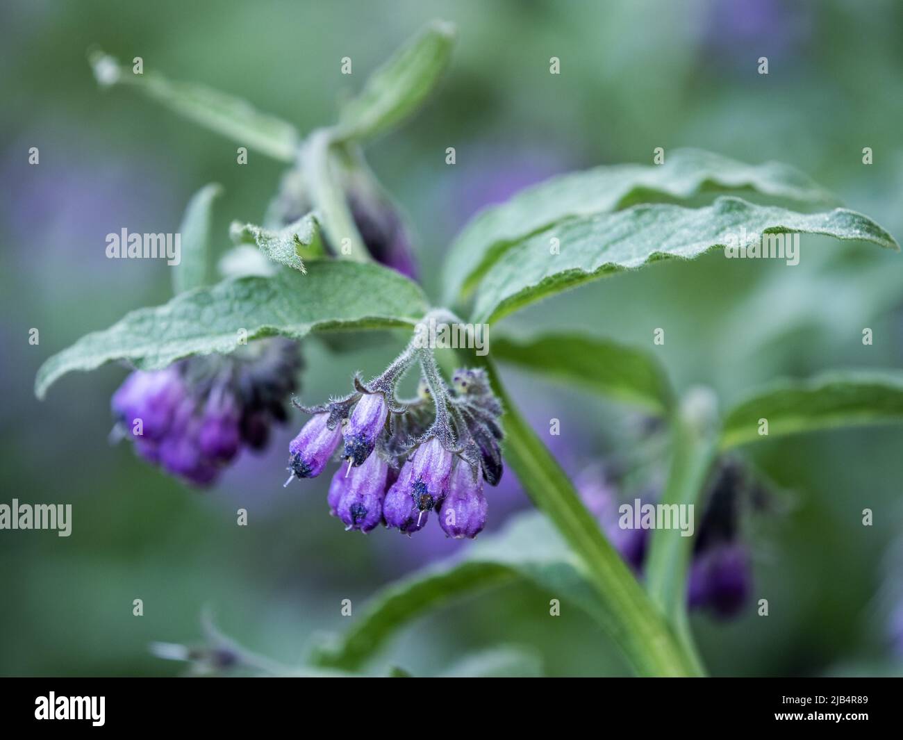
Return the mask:
M372 138L420 108L448 65L454 37L452 23L428 23L373 72L358 97L342 108L336 138Z

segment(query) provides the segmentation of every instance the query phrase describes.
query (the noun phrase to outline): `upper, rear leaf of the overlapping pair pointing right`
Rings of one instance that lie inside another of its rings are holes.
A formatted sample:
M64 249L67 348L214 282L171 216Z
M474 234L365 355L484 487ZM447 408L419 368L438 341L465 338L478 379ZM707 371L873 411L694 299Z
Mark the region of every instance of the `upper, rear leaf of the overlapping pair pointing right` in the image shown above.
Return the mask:
M698 149L677 149L667 155L665 164L613 164L563 174L470 220L446 260L445 302L469 295L513 244L563 220L619 211L639 202L683 201L704 192L726 191L839 205L831 193L787 164L743 164Z

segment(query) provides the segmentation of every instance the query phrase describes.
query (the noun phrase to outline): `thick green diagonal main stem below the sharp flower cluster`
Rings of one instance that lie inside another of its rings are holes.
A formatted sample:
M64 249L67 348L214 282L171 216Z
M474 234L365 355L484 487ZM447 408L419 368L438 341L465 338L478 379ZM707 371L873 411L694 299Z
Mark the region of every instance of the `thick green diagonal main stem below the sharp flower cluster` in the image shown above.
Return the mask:
M507 397L492 362L471 354L468 361L487 370L505 407L506 461L535 505L553 521L582 561L585 576L600 595L603 629L641 675L700 675L702 670L694 656L672 632L611 547L567 475Z

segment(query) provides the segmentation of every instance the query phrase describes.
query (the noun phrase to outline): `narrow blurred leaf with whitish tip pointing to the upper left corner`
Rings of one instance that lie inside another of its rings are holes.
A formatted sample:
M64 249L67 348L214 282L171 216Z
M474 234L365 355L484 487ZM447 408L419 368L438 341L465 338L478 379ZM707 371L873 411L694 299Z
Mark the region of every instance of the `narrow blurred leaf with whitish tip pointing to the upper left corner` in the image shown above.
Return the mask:
M237 144L256 149L282 162L294 162L298 132L284 120L260 113L241 98L192 82L168 80L156 72L137 75L131 67L95 50L88 61L98 82L105 86L132 85L176 113L206 126Z

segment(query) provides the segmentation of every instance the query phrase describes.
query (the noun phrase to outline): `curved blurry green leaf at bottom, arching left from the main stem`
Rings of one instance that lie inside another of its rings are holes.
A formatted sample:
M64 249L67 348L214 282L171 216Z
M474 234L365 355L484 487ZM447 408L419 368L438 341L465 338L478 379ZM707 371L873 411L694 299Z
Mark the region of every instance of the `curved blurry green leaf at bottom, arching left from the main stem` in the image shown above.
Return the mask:
M526 578L590 614L600 614L576 557L549 520L531 511L513 518L498 534L480 537L464 557L453 557L387 586L374 596L348 632L337 642L321 647L314 662L358 670L419 615L454 598L517 578Z

